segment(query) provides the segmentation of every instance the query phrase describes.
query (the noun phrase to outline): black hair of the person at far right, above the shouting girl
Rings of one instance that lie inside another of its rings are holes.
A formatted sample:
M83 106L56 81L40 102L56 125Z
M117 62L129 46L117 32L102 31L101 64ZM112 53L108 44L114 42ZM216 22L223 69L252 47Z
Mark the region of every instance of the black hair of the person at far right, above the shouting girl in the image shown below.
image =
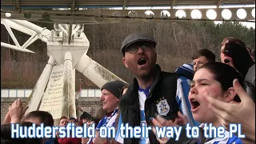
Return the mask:
M250 54L246 49L245 42L232 37L226 38L225 42L224 40L222 42L222 46L225 46L223 54L232 58L234 67L242 74L242 77L245 77L250 66L254 64L254 61L250 58Z

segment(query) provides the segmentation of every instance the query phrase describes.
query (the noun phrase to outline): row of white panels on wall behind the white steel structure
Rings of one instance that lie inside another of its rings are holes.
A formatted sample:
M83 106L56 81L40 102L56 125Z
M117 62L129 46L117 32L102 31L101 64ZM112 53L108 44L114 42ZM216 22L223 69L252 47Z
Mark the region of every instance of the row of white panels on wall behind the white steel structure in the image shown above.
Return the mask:
M29 98L32 89L1 89L1 98ZM76 92L77 93L77 92ZM79 97L100 97L100 89L82 89Z

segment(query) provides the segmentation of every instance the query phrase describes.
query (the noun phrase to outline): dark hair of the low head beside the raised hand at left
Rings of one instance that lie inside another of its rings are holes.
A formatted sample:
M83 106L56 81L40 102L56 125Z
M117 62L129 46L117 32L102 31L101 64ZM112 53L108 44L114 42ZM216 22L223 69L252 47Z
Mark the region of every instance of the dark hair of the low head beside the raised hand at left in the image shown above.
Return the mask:
M26 120L29 118L38 118L39 121L44 124L44 126L54 126L53 116L46 111L31 111L21 119L21 122L26 122Z

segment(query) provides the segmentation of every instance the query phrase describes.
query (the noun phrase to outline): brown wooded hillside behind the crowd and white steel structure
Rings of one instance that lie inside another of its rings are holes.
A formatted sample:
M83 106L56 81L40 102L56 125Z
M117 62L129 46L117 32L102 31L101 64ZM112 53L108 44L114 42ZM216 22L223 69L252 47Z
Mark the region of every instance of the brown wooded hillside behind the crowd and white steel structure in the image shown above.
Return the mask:
M53 29L53 24L37 23L38 26ZM114 23L85 25L85 34L90 41L88 55L108 70L130 82L134 77L122 64L120 46L122 40L131 33L141 32L153 36L158 45L158 64L162 70L174 71L183 63L191 62L195 51L209 49L219 61L220 43L223 38L237 37L255 49L255 29L248 29L239 22L146 22L146 23ZM14 31L18 42L23 44L30 36ZM1 25L1 42L14 42ZM7 48L1 48L1 88L33 89L43 68L48 61L46 43L38 40L28 47L35 54L26 54ZM89 86L82 88L98 88L85 76L76 73L76 90L78 79L83 79Z

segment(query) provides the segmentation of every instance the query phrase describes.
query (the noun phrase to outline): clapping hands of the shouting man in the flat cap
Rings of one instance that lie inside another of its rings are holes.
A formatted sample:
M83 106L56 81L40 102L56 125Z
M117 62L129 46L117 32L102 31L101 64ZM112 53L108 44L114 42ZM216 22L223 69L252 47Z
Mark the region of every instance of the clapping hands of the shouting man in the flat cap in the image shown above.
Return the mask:
M186 124L188 121L186 119L186 116L183 115L180 111L178 111L178 118L174 120L166 120L165 118L162 118L160 115L158 115L156 118L153 118L152 123L154 125L153 127L153 133L157 136L155 126L163 127L163 126L180 126L181 124ZM169 141L169 138L157 138L158 142L160 143L166 143Z

